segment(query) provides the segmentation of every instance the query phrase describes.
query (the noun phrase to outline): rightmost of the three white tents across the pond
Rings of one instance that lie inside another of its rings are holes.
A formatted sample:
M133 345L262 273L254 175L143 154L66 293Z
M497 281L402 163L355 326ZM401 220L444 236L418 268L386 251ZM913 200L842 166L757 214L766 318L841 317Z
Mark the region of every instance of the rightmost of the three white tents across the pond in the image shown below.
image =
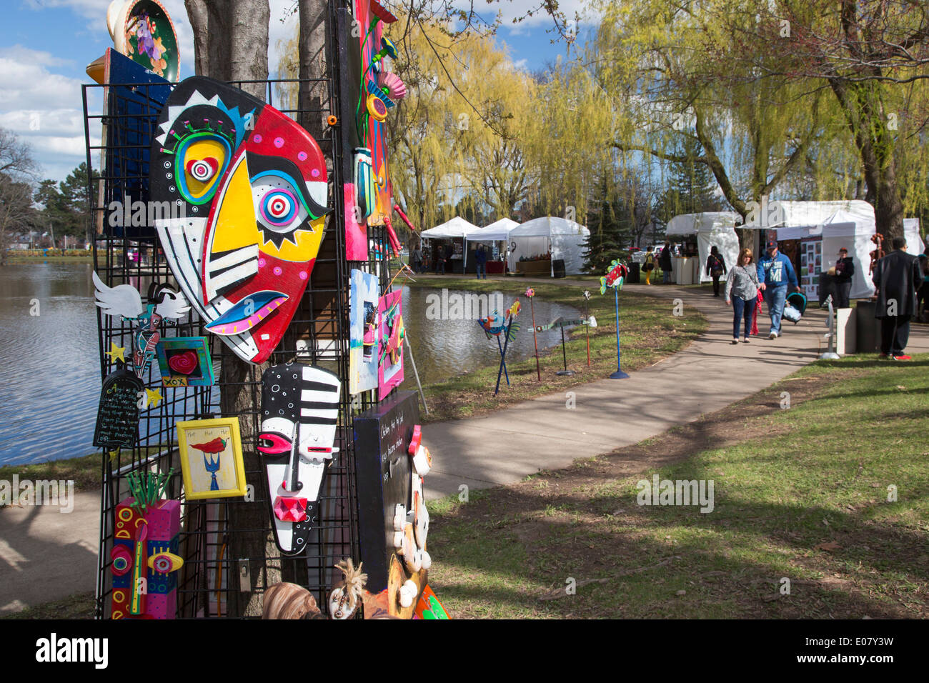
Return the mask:
M590 230L567 218L545 216L527 220L509 232L509 269L516 271L520 256L540 256L551 250L553 261L564 259L566 275L581 273L589 236ZM554 264L552 275L555 275Z

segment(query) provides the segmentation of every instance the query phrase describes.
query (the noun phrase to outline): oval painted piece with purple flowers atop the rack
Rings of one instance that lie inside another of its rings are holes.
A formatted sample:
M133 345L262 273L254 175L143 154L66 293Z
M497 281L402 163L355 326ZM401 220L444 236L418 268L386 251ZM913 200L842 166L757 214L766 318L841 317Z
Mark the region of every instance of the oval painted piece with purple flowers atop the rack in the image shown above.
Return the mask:
M177 81L177 32L157 0L113 0L107 9L113 45L127 57L169 81Z

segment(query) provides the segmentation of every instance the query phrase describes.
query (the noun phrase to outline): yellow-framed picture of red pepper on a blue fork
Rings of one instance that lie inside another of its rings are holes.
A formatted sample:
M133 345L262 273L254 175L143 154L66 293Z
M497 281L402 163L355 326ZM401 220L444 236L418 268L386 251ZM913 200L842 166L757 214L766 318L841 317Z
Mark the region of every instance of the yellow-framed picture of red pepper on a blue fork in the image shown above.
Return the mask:
M182 420L175 427L187 500L235 498L248 493L238 417Z

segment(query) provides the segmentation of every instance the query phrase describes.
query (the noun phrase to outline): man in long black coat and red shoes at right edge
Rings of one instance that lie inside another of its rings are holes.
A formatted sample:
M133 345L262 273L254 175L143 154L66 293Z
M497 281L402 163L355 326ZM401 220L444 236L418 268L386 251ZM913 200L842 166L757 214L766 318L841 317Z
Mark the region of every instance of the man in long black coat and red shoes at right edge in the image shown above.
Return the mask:
M907 254L907 241L895 237L893 251L874 267L871 282L877 290L874 317L881 321L881 358L909 361L903 351L909 341L909 319L916 313L916 288L922 284L917 256Z

